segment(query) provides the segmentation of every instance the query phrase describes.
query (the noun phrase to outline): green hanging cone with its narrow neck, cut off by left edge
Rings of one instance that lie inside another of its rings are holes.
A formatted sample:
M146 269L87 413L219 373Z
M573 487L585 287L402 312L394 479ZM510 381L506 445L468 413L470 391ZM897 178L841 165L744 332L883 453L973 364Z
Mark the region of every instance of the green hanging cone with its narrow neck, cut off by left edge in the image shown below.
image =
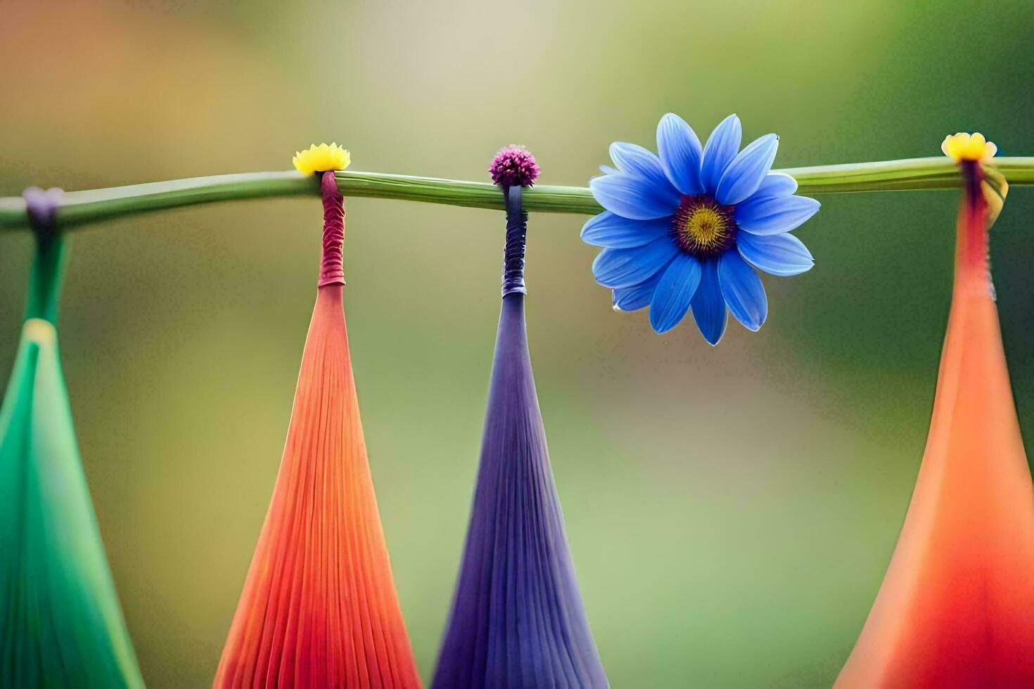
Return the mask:
M143 687L61 371L62 269L61 239L41 239L0 407L0 687Z

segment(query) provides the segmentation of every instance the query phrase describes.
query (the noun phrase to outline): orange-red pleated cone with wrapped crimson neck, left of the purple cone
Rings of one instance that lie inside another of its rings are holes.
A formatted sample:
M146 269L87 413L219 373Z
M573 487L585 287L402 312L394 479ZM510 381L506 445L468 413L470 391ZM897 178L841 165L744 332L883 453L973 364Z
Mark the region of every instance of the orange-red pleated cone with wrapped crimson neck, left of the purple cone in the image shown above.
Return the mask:
M420 686L359 418L333 173L323 193L315 308L273 499L215 676L220 689Z

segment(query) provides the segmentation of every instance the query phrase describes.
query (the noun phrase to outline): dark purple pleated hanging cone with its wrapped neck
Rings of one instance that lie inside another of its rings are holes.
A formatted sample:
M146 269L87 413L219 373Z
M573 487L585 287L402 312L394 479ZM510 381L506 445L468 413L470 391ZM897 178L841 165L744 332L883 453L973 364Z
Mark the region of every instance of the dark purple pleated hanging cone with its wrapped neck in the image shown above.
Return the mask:
M568 550L531 374L520 187L509 189L508 215L481 462L433 686L606 687Z

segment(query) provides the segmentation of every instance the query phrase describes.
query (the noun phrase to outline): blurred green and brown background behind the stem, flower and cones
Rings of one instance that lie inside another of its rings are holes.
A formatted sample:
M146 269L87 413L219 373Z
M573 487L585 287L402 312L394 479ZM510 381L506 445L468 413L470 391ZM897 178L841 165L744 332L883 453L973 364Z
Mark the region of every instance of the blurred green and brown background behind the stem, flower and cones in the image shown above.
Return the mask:
M525 144L578 184L673 111L782 137L777 166L936 155L975 128L1034 154L1034 6L996 2L0 3L0 195L285 169L485 179ZM582 593L615 687L822 687L876 595L922 455L952 192L824 196L815 269L718 348L596 285L585 218L535 215L527 319ZM347 201L353 363L403 610L427 678L475 477L503 218ZM1034 439L1034 193L993 233ZM77 230L64 364L152 688L211 682L271 495L316 277L314 198ZM31 240L0 236L0 370ZM1030 451L1030 447L1028 448Z

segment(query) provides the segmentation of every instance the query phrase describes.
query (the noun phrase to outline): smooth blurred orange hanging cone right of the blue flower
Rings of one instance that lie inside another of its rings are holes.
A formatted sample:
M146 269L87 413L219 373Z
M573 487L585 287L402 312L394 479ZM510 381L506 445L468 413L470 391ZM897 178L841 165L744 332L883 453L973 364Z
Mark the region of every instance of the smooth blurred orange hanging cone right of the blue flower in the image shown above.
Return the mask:
M1034 487L987 265L984 171L964 170L926 450L842 688L1034 686Z

